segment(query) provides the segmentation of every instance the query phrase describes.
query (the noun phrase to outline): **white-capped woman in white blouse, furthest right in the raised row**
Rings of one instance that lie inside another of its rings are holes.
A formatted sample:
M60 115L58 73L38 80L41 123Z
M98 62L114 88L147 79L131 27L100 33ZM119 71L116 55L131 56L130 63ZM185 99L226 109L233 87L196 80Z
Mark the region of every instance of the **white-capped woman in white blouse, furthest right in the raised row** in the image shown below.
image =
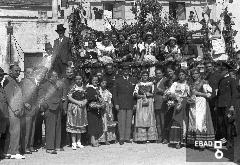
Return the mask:
M177 39L170 37L169 40L165 43L165 60L167 61L180 61L181 60L181 50L177 45Z

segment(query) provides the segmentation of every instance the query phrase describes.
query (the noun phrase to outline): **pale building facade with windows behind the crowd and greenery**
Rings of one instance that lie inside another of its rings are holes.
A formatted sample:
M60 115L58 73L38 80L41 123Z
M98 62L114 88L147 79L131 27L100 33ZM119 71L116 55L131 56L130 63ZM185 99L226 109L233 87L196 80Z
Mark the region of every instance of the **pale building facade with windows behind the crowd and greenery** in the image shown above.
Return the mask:
M222 4L226 0L159 0L163 5L164 15L171 15L184 24L188 22L190 11L196 21L202 19L205 6L212 10L211 17L219 18ZM68 16L72 8L82 5L82 17L88 26L104 31L108 28L106 19L120 28L122 24L134 22L132 5L137 0L2 0L0 1L0 65L8 71L9 55L19 61L22 70L35 65L41 60L44 45L53 44L58 37L55 32L57 24L64 24L68 36ZM239 4L238 4L239 5ZM221 7L219 7L221 6ZM238 9L233 9L238 10ZM13 33L7 33L11 21Z

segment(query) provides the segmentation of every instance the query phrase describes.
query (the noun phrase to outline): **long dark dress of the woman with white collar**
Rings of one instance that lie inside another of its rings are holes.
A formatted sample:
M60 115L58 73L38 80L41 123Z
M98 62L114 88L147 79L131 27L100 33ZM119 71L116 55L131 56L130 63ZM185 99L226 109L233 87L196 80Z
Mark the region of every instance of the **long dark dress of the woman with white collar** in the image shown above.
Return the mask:
M100 138L103 134L102 113L98 109L90 107L91 103L99 101L96 97L98 95L97 90L97 88L94 89L92 86L86 90L88 134L94 136L96 139Z

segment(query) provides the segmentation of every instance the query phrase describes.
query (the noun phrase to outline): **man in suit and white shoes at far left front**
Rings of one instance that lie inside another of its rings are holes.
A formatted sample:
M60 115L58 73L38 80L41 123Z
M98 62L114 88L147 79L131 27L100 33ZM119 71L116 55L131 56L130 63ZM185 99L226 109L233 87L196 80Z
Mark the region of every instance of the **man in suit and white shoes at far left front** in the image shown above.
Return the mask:
M10 122L10 143L8 154L11 159L25 159L19 154L20 141L20 118L22 116L23 100L22 89L17 78L20 75L20 67L17 64L10 66L10 74L4 81L4 90L7 95L9 122Z

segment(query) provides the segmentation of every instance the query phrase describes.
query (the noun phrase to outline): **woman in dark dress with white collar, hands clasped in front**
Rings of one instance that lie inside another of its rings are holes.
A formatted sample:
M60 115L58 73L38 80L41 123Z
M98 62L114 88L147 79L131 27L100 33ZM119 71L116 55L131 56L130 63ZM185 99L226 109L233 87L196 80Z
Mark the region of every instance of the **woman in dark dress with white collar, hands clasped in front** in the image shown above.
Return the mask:
M103 134L102 114L105 104L99 92L98 81L96 75L91 76L86 90L88 134L93 147L99 146L98 139Z

